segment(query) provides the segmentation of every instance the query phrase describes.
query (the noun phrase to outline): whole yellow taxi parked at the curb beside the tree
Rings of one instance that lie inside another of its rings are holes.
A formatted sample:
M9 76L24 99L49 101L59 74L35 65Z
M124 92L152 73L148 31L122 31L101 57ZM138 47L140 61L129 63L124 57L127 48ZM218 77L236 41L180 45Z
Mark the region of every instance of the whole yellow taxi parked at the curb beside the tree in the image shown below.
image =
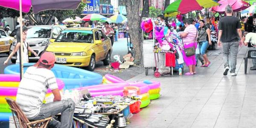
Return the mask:
M112 46L111 40L99 28L67 28L46 51L54 52L58 64L87 67L93 71L99 61L109 65Z

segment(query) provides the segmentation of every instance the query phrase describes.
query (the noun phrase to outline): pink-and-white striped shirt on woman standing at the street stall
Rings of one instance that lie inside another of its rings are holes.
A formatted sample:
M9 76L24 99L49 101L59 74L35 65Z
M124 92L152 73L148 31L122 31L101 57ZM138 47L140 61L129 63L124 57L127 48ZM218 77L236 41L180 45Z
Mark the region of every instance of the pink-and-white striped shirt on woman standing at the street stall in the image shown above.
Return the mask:
M195 25L190 24L185 28L184 32L188 34L185 38L183 38L184 44L194 43L196 41L195 38L197 38L197 29L195 28Z

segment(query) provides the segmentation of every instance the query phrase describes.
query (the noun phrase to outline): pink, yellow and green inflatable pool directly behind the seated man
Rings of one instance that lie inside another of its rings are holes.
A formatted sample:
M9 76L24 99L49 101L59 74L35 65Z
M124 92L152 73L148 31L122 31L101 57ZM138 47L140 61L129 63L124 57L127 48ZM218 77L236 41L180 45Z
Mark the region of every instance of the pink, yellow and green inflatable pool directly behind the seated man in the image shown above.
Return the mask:
M63 91L64 82L57 80L59 90ZM20 76L15 74L0 74L0 121L8 121L11 110L5 97L16 99ZM49 97L52 91L48 89L46 97Z

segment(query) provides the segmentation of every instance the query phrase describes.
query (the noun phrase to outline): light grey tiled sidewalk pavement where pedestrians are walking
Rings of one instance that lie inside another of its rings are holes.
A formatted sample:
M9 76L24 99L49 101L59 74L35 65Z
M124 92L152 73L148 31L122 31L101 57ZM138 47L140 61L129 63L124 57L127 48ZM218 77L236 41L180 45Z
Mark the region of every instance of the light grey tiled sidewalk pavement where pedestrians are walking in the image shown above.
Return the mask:
M141 74L128 80L161 82L160 98L134 114L128 128L256 128L256 71L249 59L244 74L247 47L239 48L235 77L223 76L221 51L210 51L209 67L198 66L193 76Z

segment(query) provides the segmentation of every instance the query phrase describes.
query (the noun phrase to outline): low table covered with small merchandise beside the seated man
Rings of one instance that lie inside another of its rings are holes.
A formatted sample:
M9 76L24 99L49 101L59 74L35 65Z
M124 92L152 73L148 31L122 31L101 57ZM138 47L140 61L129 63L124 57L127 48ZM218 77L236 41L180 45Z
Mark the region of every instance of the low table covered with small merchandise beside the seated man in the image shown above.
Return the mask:
M105 128L111 120L115 120L115 127L126 126L125 117L130 114L129 105L137 100L131 97L121 96L98 96L87 97L76 104L74 112L73 128L79 128L80 125L90 127ZM138 106L139 107L139 106Z

